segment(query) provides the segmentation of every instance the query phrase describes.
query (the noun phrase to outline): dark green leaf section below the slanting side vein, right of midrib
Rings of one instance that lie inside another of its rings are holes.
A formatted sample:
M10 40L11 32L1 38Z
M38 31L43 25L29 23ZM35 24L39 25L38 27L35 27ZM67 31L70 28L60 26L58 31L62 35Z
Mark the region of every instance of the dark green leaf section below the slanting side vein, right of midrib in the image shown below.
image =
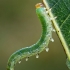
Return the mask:
M61 32L63 33L63 37L64 37L64 39L67 43L67 46L70 50L70 15L64 21L64 23L62 24L60 29L61 29Z

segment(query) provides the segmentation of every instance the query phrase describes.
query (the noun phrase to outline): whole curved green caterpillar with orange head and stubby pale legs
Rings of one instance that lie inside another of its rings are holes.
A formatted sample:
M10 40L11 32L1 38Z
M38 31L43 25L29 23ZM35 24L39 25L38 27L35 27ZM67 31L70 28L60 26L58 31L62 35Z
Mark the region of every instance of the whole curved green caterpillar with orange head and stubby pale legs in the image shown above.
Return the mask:
M42 3L36 4L36 14L38 15L38 18L40 19L42 24L42 35L36 44L33 44L32 46L26 48L22 48L13 53L8 60L7 70L14 70L15 64L17 62L20 63L21 59L24 57L26 57L26 61L28 61L28 58L33 55L36 55L36 58L38 58L39 53L45 49L48 52L49 41L51 40L52 42L54 42L52 38L52 31L54 30L51 25L52 23L50 17L47 13L48 11L46 11Z

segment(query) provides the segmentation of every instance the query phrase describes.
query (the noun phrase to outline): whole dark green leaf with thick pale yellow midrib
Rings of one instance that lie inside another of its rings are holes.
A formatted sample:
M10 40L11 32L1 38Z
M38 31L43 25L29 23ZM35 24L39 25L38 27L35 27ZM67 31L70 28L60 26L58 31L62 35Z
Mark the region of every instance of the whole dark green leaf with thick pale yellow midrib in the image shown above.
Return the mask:
M65 49L68 57L67 66L70 69L70 0L43 0L50 17L57 17L53 20L53 25Z

